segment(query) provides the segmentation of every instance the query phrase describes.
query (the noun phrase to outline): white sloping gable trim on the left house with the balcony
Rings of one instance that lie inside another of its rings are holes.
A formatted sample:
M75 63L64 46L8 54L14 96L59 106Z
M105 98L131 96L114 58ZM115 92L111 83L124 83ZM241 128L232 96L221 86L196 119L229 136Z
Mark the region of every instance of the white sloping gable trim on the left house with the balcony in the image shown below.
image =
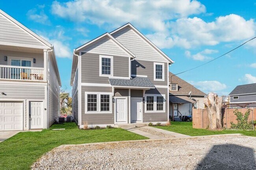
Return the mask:
M2 11L0 9L0 14L2 14L3 17L5 17L7 20L9 20L10 22L13 22L14 24L18 25L21 29L23 29L25 32L27 32L28 34L32 35L33 38L37 39L39 42L43 43L44 45L48 46L48 47L52 47L52 44L50 44L49 42L47 42L45 39L43 39L42 37L40 37L39 35L35 34L33 31L31 31L30 29L28 29L27 27L25 27L24 25L22 25L20 22L18 22L17 20L15 20L14 18L12 18L11 16L9 16L7 13L5 13L4 11Z

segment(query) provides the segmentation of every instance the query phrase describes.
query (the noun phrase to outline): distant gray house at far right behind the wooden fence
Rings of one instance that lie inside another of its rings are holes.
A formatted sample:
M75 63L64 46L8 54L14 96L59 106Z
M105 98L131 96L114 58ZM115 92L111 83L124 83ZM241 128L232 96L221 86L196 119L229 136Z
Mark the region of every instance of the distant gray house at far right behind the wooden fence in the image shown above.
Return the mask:
M230 107L256 107L256 83L238 85L229 98Z

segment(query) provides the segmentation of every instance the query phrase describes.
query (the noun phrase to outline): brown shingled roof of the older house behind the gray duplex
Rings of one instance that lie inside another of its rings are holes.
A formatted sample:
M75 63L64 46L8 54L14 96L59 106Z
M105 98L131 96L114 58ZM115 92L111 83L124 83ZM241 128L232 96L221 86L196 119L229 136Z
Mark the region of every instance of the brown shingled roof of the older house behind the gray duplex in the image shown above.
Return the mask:
M178 83L178 91L169 90L170 94L173 95L186 95L189 96L189 92L191 91L191 96L206 96L206 94L193 85L187 83L187 81L182 80L178 76L175 76L173 73L169 72L169 83Z

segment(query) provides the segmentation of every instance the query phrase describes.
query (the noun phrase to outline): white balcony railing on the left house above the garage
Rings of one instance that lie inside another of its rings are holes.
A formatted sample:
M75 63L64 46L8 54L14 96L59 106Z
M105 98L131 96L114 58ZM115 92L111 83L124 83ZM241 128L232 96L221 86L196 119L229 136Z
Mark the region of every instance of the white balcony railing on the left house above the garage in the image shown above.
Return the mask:
M44 68L0 65L0 80L43 81Z

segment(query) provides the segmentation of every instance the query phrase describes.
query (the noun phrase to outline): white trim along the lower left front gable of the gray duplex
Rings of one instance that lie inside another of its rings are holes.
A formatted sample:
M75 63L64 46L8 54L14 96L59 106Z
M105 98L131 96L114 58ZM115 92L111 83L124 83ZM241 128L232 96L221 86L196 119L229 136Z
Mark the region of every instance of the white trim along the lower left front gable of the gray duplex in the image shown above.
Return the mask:
M87 42L85 43L84 45L78 47L77 49L75 49L75 51L79 51L81 49L83 49L84 47L87 47L88 45L96 42L97 40L105 37L105 36L108 36L110 38L110 40L115 43L117 45L117 47L119 47L122 51L124 51L126 54L132 56L133 58L135 58L135 55L130 51L128 50L126 47L124 47L124 45L122 45L120 42L118 42L113 36L111 36L109 33L105 33L105 34L102 34L101 36L95 38L94 40L91 40L90 42Z

